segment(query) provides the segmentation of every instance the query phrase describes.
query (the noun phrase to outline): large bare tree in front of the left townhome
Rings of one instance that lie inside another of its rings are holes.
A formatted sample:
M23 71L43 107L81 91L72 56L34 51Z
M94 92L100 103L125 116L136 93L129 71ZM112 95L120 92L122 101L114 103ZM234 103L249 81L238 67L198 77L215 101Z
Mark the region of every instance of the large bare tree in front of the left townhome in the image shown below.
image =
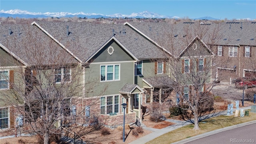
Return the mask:
M4 75L10 90L0 93L0 98L16 108L16 116L23 116L23 132L36 133L48 144L49 137L60 135L65 124L84 118L84 110L76 110L76 104L95 80L85 83L86 66L36 26L28 24L19 30L22 34L7 36L3 42L13 55L7 61L1 59L1 70L6 70L6 62L15 66L12 74Z

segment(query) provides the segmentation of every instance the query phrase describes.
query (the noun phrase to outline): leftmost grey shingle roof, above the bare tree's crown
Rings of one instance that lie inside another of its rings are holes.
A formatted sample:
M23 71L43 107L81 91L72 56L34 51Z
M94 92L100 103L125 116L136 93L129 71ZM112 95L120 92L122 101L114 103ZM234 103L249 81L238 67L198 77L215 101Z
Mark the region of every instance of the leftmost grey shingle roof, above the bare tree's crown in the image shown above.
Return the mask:
M78 62L44 32L31 24L1 24L0 43L30 65L39 62L40 64Z

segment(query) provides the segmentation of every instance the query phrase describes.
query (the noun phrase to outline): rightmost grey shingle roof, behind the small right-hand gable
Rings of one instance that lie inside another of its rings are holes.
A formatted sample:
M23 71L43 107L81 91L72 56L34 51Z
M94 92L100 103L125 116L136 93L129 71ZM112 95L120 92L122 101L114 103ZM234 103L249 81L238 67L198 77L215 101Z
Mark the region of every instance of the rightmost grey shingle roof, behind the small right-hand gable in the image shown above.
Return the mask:
M218 24L129 22L129 24L174 56L180 54L196 35L208 45L256 45L256 23L252 22ZM251 40L252 38L254 40Z

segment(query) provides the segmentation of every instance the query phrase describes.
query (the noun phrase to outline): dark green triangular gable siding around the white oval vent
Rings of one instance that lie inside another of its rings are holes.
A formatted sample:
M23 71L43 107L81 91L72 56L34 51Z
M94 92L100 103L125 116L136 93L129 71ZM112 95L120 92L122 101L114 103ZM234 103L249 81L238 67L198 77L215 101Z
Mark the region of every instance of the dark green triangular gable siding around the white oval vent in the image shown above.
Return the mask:
M114 52L112 55L108 54L108 47L112 46ZM106 45L96 56L93 58L93 62L117 62L117 61L129 61L133 60L122 48L115 42Z

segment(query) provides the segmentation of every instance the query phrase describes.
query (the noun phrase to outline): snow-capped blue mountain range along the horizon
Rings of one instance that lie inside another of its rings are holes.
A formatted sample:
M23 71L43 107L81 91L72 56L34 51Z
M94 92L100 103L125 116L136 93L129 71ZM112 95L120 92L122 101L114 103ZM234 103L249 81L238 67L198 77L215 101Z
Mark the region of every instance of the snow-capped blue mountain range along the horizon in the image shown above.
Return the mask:
M78 13L70 13L70 12L28 12L26 10L1 10L0 11L0 17L13 17L13 18L48 18L48 17L80 17L80 18L175 18L179 19L178 16L163 16L157 13L153 12L139 12L139 13L132 13L132 14L111 14L111 15L104 15L104 14L95 14L95 13L84 13L84 12L78 12ZM210 16L205 16L201 18L193 18L193 19L207 19L207 20L219 20L217 18L212 18Z

